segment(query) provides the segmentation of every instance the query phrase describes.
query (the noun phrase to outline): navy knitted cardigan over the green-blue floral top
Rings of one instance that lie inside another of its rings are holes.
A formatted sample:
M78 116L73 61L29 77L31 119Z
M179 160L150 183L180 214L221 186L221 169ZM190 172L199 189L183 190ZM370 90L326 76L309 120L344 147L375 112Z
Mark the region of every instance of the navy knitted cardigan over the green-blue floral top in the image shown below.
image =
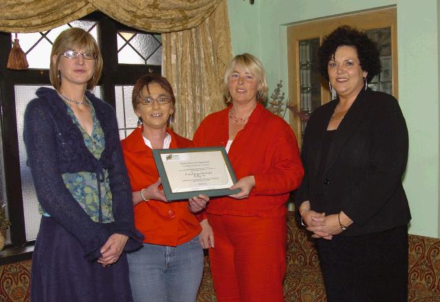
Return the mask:
M100 247L113 233L130 237L124 251L142 246L142 235L133 223L133 202L122 156L115 112L109 104L86 91L104 130L105 149L97 160L85 146L83 135L67 113L54 89L41 87L38 98L25 111L23 138L36 195L43 209L83 246L85 257L100 257ZM94 222L66 188L61 174L95 172L102 179L109 172L115 222Z

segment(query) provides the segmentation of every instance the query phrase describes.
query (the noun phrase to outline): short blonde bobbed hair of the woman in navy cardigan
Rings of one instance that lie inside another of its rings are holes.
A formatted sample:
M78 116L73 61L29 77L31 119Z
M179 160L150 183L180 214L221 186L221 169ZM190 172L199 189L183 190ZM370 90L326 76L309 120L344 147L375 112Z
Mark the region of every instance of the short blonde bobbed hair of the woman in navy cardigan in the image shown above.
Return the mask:
M54 45L52 45L49 76L50 82L56 90L59 90L61 87L61 77L58 77L58 62L60 62L61 54L67 50L74 49L90 50L96 54L94 74L89 82L87 82L87 89L93 89L98 84L102 71L102 56L98 44L95 38L85 30L72 27L61 32L55 39ZM55 62L52 60L54 56L57 56Z

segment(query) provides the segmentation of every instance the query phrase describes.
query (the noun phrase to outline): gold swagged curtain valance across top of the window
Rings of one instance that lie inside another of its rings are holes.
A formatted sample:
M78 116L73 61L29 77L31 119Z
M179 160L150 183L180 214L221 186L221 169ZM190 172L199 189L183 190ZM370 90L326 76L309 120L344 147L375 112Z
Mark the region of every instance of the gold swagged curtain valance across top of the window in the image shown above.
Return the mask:
M147 32L197 27L221 0L2 0L0 31L43 32L100 10Z

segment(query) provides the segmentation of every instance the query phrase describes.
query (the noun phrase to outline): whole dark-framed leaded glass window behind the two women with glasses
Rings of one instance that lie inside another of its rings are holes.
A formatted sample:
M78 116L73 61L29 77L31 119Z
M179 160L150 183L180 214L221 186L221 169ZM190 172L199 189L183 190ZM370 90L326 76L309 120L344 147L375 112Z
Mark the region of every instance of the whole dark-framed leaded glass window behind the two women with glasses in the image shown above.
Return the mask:
M105 49L102 51L101 79L91 92L115 107L121 139L129 135L137 123L131 106L131 91L136 80L145 73L162 73L160 35L126 27L100 12L45 32L18 34L30 68L24 71L0 69L0 126L3 128L0 146L8 146L0 148L0 197L8 206L12 222L8 237L10 246L32 242L39 229L38 200L26 165L23 114L28 102L35 97L35 91L41 86L50 87L48 69L52 44L58 34L69 27L87 30L100 49ZM11 34L0 34L1 56L8 56L13 39ZM117 57L118 62L114 60ZM10 205L14 206L8 205L10 200L14 202Z

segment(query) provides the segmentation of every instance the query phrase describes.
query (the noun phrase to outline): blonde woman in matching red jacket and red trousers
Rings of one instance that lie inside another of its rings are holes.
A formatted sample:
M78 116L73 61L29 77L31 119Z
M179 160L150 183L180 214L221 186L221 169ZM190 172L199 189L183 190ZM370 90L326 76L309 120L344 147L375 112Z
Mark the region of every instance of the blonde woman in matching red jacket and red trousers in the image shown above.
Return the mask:
M303 178L296 137L265 110L267 83L261 62L236 56L224 77L228 108L204 119L197 146L225 146L241 192L210 201L201 242L219 301L283 301L286 206ZM211 229L212 227L212 229ZM214 247L215 237L215 247Z

